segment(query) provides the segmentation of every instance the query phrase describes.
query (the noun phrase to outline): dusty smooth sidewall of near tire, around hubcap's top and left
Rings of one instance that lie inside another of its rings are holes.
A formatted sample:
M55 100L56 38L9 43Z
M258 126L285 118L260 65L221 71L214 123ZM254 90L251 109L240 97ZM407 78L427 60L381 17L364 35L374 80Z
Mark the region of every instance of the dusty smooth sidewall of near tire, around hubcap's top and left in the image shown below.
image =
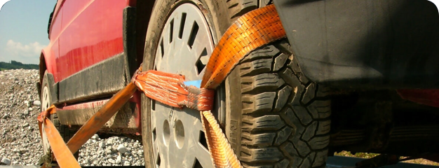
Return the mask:
M154 60L162 28L172 11L182 3L193 3L203 13L205 20L210 27L215 44L219 41L222 34L230 26L230 18L225 1L209 1L209 0L158 0L154 3L150 22L145 38L144 57L142 69L149 70L154 67ZM154 156L148 151L154 148L151 139L151 99L142 94L142 141L144 144L145 166L155 167Z

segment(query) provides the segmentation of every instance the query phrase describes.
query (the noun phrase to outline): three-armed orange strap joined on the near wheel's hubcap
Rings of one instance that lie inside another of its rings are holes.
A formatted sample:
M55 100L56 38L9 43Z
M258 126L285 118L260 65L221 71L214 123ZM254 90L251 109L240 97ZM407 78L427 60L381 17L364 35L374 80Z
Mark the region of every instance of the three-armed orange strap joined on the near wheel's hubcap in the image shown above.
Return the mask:
M210 56L198 94L189 93L183 84L184 76L159 71L137 72L133 83L151 99L182 108L183 105L198 109L208 141L208 148L216 167L242 167L231 149L210 109L213 90L229 75L230 71L252 50L285 37L285 31L273 5L252 10L238 18L222 36ZM189 94L195 98L189 99ZM198 100L198 102L194 101ZM188 104L188 102L191 102ZM197 106L195 106L196 104ZM201 109L205 107L205 109ZM209 108L208 108L209 107Z

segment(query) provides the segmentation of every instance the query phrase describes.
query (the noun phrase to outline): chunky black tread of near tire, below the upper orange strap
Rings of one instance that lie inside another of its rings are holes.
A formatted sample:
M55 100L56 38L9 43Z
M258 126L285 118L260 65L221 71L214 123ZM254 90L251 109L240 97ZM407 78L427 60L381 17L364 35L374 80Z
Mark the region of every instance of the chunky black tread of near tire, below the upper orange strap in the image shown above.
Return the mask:
M303 75L290 45L254 50L228 77L226 134L244 167L325 167L327 87Z

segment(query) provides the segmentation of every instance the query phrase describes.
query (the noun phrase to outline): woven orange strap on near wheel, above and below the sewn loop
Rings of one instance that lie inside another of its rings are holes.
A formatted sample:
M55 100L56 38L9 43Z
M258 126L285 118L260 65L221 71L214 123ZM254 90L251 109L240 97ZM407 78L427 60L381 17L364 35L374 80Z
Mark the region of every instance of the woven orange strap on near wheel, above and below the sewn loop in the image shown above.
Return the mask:
M273 5L246 13L219 40L210 56L201 87L217 87L245 55L283 37L285 31ZM201 121L215 166L242 167L212 113L201 111Z

